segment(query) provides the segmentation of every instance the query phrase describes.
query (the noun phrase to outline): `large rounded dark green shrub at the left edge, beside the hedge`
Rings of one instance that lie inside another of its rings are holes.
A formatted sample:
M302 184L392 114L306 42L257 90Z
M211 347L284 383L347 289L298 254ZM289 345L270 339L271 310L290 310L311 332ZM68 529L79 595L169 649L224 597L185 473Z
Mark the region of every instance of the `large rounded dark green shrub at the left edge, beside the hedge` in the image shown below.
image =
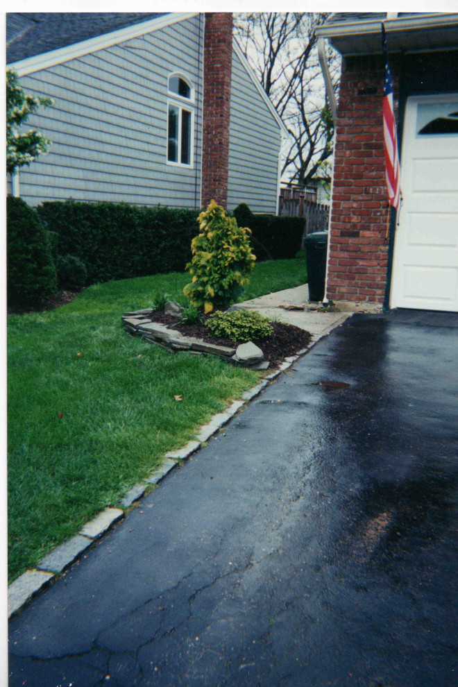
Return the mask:
M6 226L8 306L42 305L57 290L49 236L22 198L6 199Z

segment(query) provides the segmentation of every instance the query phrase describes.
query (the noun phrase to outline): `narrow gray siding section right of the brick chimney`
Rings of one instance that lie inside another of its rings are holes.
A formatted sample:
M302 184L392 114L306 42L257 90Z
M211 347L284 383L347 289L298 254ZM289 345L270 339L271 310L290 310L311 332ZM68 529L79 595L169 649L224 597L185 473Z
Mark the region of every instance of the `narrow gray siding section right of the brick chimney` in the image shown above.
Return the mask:
M228 210L246 203L275 214L280 127L235 51L231 80Z

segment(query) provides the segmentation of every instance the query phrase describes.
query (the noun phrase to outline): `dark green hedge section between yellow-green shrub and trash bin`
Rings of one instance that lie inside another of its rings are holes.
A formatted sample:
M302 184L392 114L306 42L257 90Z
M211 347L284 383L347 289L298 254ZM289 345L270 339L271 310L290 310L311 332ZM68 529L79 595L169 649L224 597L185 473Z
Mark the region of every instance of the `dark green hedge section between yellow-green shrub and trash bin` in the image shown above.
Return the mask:
M305 229L303 217L253 214L245 203L235 208L234 216L239 226L251 229L251 244L257 262L285 260L295 257L300 250Z

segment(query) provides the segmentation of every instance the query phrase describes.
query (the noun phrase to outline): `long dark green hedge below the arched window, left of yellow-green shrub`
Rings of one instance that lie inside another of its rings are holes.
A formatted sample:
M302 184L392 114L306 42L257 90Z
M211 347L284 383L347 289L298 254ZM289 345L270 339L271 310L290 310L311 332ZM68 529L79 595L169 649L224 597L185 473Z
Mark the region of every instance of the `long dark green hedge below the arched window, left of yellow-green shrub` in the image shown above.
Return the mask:
M46 228L58 234L57 252L84 262L88 285L182 272L198 232L197 210L51 201L37 212Z

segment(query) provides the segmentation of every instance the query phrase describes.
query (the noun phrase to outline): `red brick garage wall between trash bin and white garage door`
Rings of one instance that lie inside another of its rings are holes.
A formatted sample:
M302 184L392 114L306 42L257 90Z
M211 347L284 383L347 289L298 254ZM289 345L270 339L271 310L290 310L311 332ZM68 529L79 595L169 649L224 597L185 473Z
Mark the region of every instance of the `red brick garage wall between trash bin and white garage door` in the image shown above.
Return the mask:
M390 60L397 102L398 65ZM387 187L377 56L343 63L334 153L327 296L383 303L387 279Z

